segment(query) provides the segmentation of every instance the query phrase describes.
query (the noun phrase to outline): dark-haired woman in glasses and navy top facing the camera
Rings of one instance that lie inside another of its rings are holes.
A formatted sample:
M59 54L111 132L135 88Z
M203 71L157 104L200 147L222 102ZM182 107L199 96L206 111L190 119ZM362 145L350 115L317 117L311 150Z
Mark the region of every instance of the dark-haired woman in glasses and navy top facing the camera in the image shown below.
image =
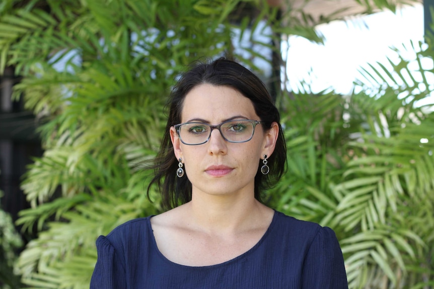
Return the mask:
M152 181L173 209L100 236L91 288L347 288L330 228L260 202L285 157L258 77L223 58L192 67L171 93Z

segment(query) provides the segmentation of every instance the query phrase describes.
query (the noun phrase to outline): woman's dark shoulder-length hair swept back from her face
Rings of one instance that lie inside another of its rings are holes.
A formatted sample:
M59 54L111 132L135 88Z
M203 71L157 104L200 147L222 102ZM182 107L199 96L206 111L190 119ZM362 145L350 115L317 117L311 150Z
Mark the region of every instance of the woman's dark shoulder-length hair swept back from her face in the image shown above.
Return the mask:
M280 179L286 168L286 144L280 125L280 115L264 83L249 69L232 60L219 58L210 63L196 62L188 71L180 75L170 94L169 118L160 151L154 159L154 178L148 186L149 195L151 186L154 183L158 184L162 205L167 209L191 201L191 182L185 176L176 175L178 161L173 152L170 127L181 123L181 111L187 93L195 86L205 83L230 86L241 92L252 101L255 113L260 121L264 122L265 131L271 128L273 122L278 124L279 135L276 147L267 159L270 172L266 175L262 174L261 160L258 163L258 172L255 176L255 198L258 201L261 201L262 190L271 187Z

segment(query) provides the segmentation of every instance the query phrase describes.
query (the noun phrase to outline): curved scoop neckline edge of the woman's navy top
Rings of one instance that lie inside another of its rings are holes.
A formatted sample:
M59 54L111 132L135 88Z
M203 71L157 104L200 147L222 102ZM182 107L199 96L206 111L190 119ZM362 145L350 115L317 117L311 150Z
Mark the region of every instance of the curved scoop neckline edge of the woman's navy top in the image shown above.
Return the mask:
M225 262L222 263L218 263L218 264L213 264L213 265L205 265L205 266L189 266L189 265L183 265L183 264L179 264L176 262L173 262L171 260L169 260L158 248L157 245L157 240L155 239L154 236L154 230L152 229L152 225L151 225L151 218L154 216L150 216L149 218L147 218L148 220L148 233L150 234L150 236L152 236L151 238L151 245L153 246L153 249L157 252L157 254L159 255L159 257L166 263L171 264L172 266L177 266L177 267L182 267L182 268L190 268L190 269L209 269L209 268L215 268L215 267L220 267L220 266L225 266L228 265L230 263L234 263L237 262L240 259L243 259L244 257L246 257L247 255L252 254L267 238L267 236L270 234L270 231L273 229L274 224L276 223L276 219L277 219L277 211L273 210L274 214L273 214L273 219L271 220L270 225L268 226L267 230L265 231L265 233L262 235L262 237L259 239L259 241L253 245L253 247L251 247L249 250L247 250L246 252L242 253L241 255L238 255L230 260L227 260Z

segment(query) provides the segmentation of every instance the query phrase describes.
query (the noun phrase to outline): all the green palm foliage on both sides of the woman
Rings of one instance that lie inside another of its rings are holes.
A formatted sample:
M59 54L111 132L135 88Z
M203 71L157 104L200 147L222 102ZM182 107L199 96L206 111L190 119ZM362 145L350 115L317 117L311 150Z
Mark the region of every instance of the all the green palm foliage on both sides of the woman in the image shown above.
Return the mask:
M32 208L19 224L39 232L17 265L25 284L89 287L96 238L161 212L139 164L159 146L165 95L186 64L229 55L264 74L256 60L271 59L263 51L280 54L272 39L321 42L315 25L335 17L315 20L303 7L278 15L261 1L235 0L0 6L0 71L11 65L23 76L14 97L40 119L45 150L22 183ZM414 44L414 61L367 67L352 95L312 94L301 83L277 100L288 172L267 192L269 204L335 230L351 288L433 285L434 116L415 106L432 89L421 62L432 61L431 49Z

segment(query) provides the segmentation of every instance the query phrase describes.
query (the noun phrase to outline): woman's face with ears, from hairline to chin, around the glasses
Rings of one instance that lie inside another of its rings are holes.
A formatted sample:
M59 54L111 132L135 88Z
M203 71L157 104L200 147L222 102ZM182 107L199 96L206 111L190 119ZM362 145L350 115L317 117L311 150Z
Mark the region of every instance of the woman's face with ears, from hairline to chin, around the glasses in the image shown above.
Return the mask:
M198 121L218 125L231 119L260 121L252 102L232 87L200 84L184 99L181 123ZM206 143L185 145L174 127L170 130L175 156L182 158L193 196L200 192L211 195L254 194L258 162L264 154L271 155L277 134L276 123L266 132L262 125L257 125L250 141L230 143L214 129Z

